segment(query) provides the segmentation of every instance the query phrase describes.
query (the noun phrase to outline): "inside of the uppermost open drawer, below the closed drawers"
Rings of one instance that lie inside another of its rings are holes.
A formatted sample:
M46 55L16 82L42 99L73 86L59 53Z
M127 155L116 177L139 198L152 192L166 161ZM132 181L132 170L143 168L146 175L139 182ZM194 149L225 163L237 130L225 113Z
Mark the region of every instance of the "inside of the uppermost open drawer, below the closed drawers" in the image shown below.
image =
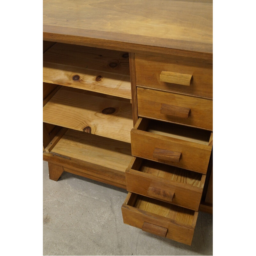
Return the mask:
M142 118L138 130L207 146L212 142L212 132L210 131L153 119Z

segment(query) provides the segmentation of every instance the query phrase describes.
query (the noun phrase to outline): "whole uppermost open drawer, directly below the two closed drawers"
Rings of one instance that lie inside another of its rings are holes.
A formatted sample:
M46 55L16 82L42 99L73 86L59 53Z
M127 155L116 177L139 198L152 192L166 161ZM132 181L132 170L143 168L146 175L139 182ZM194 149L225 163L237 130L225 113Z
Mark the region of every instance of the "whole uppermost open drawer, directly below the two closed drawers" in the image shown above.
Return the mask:
M132 156L206 174L212 132L139 118L131 131Z

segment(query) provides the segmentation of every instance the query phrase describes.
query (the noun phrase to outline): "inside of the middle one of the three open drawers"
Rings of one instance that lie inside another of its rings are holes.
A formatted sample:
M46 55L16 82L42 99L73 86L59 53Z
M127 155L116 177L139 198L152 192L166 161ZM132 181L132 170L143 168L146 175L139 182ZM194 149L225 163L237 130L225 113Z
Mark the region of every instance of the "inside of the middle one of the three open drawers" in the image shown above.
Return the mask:
M188 171L179 167L157 163L139 157L133 159L130 168L164 180L187 184L195 188L204 188L205 175L198 172Z

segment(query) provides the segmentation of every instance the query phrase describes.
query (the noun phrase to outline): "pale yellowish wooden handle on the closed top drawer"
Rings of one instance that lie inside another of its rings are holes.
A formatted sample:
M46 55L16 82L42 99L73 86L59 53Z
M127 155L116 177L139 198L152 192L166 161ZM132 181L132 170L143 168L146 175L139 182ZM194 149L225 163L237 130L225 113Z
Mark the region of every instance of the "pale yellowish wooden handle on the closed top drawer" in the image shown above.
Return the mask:
M190 85L192 75L175 73L171 71L162 71L160 74L160 81L171 83L171 84L180 84L180 85Z

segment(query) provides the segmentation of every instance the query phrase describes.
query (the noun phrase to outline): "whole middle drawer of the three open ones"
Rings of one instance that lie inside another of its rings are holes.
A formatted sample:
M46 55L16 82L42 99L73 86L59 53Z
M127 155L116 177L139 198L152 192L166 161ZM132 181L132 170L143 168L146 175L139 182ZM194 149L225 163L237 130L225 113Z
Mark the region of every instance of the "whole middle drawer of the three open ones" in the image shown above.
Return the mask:
M125 171L126 189L198 211L205 175L133 157Z

